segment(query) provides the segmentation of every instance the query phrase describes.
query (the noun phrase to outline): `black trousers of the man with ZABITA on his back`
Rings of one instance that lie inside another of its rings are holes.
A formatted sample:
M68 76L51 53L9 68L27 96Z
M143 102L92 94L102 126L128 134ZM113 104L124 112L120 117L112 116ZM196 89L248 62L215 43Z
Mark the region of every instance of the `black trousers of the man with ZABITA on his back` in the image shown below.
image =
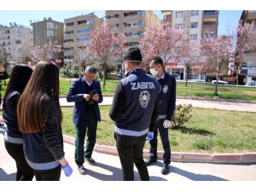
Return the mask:
M133 163L137 167L141 180L149 181L148 168L143 160L143 148L146 142L146 136L125 137L118 134L114 135L124 181L134 181Z

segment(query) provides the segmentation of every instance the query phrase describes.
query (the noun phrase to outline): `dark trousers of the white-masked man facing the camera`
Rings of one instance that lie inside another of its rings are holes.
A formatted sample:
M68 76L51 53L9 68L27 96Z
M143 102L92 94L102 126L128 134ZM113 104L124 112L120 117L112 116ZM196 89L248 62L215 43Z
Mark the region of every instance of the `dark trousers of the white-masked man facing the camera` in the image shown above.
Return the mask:
M164 148L164 156L163 161L164 163L170 164L171 163L171 147L169 142L168 136L168 128L164 128L164 121L165 119L158 119L156 127L154 127L154 138L149 141L150 143L150 151L149 154L151 158L157 159L157 134L158 131L160 132L160 138L162 141L162 145Z

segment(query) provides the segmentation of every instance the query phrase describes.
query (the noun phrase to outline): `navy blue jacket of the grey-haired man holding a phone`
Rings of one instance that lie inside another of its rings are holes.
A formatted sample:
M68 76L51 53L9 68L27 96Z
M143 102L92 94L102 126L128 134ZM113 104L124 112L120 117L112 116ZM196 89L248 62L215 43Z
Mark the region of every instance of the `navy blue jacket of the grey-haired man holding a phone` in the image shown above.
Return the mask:
M87 105L86 100L83 95L86 93L85 90L85 79L80 78L73 81L68 93L67 93L67 102L75 102L73 107L73 124L78 125L79 120L81 119L84 109ZM94 102L94 108L96 111L96 116L98 121L101 121L101 113L98 103L103 101L101 84L98 80L94 79L92 81L92 90L97 90L97 94L99 95L99 100Z

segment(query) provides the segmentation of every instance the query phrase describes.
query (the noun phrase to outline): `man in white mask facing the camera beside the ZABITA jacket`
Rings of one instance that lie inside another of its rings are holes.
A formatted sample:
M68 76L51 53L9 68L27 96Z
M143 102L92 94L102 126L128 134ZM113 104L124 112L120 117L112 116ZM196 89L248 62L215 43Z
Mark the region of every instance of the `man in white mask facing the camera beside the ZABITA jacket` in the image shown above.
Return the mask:
M154 79L160 84L159 95L159 116L157 125L154 129L154 138L150 143L150 158L145 161L149 166L157 160L157 134L160 132L161 142L164 148L164 166L161 170L163 175L169 172L169 165L171 163L171 147L168 136L168 127L171 126L171 119L175 113L176 103L176 79L172 75L166 73L163 61L160 57L154 57L149 63L150 73L153 74Z

